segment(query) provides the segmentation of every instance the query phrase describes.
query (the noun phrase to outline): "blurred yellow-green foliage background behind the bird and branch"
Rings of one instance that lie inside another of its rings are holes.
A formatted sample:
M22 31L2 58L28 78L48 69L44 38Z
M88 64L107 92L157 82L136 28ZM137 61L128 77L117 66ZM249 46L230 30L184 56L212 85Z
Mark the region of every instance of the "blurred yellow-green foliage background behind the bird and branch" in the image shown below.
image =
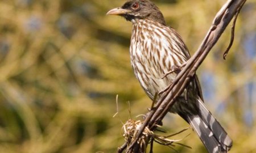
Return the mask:
M130 66L132 25L106 16L120 0L0 1L0 152L115 152L122 123L151 101ZM224 0L159 0L168 25L191 54ZM234 140L230 152L256 152L256 1L238 16L234 45L222 59L230 25L197 74L205 103ZM118 116L115 97L118 97ZM129 113L130 101L131 113ZM188 125L175 114L168 134ZM179 152L205 152L192 130ZM177 135L175 139L183 138ZM155 152L175 152L155 145Z

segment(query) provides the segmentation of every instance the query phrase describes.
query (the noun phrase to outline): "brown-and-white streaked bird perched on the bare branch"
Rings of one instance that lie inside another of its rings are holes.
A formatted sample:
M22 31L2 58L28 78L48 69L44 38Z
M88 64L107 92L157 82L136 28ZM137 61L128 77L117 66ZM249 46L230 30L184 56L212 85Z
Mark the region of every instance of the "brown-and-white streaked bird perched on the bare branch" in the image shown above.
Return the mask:
M181 36L167 26L162 12L149 0L130 0L107 15L118 15L133 24L130 59L134 74L151 100L156 100L175 80L191 57ZM228 152L232 139L204 104L195 74L170 108L199 135L208 152Z

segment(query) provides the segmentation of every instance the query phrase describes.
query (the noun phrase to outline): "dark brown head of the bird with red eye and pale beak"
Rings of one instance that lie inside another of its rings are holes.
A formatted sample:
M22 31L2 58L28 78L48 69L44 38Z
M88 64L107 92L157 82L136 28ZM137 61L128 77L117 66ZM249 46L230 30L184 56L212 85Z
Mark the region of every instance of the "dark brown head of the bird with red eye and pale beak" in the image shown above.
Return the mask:
M128 1L122 7L113 8L107 15L123 16L133 23L138 19L147 19L166 25L162 12L149 0Z

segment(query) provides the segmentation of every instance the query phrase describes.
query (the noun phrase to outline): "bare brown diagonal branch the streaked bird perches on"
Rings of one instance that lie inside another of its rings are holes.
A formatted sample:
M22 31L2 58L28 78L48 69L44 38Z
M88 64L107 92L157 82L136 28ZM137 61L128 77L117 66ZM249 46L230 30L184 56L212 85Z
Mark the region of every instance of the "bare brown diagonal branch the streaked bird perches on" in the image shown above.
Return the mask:
M177 96L184 91L186 84L190 81L190 79L195 75L196 70L204 61L205 57L207 57L210 49L216 44L225 28L228 26L230 21L234 18L233 27L232 27L232 39L230 40L230 45L226 52L224 53L224 58L230 49L233 37L234 37L234 24L236 22L237 15L239 14L243 4L246 0L228 0L217 12L212 26L210 27L207 36L205 36L203 42L201 43L199 49L196 53L187 61L184 68L177 75L176 79L170 87L163 93L160 99L157 101L155 107L151 109L148 113L146 119L143 121L141 128L138 130L137 134L130 142L124 143L121 147L118 148L117 152L123 152L126 149L126 152L144 152L148 145L148 142L152 142L154 138L143 137L143 142L138 142L141 140L144 129L150 129L154 131L156 129L156 125L162 121L164 116L168 113L172 105L175 103L175 99ZM143 143L143 145L142 145ZM129 145L127 145L129 144Z

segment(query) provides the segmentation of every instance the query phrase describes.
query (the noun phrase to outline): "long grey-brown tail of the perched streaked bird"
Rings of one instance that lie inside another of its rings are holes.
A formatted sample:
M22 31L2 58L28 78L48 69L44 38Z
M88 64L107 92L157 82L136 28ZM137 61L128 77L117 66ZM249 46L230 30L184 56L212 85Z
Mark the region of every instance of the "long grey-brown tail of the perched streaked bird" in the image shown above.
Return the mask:
M208 152L228 152L232 147L232 139L208 111L203 101L199 99L198 102L199 114L183 114L183 117L199 135Z

